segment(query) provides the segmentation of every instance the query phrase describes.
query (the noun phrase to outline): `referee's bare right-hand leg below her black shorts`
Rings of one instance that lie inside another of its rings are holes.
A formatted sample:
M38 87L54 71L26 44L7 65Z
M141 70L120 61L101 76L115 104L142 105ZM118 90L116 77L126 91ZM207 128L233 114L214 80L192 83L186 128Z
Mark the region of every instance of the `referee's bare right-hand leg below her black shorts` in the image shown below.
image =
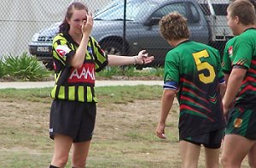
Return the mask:
M73 143L72 164L76 168L84 168L89 153L90 141L84 143Z

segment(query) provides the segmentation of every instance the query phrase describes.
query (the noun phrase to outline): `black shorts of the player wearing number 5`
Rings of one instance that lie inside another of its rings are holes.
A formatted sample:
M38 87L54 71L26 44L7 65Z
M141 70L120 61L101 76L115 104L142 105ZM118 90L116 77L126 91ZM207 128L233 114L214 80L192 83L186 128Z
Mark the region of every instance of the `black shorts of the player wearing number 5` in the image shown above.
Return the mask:
M196 145L204 145L206 148L220 148L224 137L224 129L207 132L198 136L185 137L182 140Z

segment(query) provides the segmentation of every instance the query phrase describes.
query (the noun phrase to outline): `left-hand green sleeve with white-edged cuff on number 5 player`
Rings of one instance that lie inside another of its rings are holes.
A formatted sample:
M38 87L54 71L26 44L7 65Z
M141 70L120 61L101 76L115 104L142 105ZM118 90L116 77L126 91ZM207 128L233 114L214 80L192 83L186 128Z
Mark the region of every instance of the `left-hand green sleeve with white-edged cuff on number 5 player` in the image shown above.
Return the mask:
M164 88L177 90L179 84L179 55L170 51L166 54Z

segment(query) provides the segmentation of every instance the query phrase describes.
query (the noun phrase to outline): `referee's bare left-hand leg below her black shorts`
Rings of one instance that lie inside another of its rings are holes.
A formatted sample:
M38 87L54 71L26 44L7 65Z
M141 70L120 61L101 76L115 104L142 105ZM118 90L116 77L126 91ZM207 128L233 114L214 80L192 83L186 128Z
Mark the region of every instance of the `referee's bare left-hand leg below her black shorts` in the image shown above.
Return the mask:
M52 158L51 165L64 167L67 164L68 154L72 143L72 137L55 134L55 154Z

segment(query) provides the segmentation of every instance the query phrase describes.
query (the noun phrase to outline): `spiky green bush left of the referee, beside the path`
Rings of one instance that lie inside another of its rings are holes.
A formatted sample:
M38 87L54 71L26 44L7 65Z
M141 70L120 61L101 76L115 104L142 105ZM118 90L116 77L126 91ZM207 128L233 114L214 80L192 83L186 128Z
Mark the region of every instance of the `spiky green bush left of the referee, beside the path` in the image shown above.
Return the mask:
M44 78L50 75L44 64L26 52L20 56L4 56L2 67L6 72L4 76L9 76L15 81L44 81Z

